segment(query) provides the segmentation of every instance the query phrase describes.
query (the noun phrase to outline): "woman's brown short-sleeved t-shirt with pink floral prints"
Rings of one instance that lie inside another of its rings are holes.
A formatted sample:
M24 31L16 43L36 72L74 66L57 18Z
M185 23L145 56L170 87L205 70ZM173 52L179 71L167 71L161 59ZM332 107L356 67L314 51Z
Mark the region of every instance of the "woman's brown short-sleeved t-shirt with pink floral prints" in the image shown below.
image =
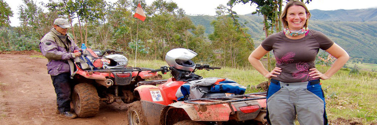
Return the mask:
M284 32L275 33L268 36L262 47L273 50L276 59L276 66L282 72L272 79L285 83L296 83L310 80L318 80L309 76L309 69L315 68L314 60L319 48L327 50L334 44L331 39L322 32L309 29L307 35L301 39L289 39Z

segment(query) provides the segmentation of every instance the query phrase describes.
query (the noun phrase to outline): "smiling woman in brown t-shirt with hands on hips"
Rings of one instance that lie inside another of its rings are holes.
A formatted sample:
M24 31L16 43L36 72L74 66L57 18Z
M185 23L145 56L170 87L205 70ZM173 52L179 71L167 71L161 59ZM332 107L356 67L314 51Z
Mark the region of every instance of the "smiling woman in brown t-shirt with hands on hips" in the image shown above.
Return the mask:
M271 125L327 125L325 98L320 79L334 75L349 59L339 45L323 33L308 28L310 12L304 3L291 0L280 15L284 31L266 38L249 56L249 62L266 78L271 78L267 92L267 114ZM337 58L322 74L314 60L319 48ZM267 71L260 59L273 50L276 67Z

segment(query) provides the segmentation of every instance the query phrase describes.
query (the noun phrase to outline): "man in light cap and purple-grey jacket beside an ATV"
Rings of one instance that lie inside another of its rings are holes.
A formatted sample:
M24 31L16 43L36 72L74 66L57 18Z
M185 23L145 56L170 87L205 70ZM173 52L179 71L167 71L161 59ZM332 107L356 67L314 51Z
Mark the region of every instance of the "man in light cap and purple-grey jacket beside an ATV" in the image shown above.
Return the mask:
M77 115L70 112L70 75L74 70L72 59L81 55L81 52L74 51L81 48L67 35L68 28L70 25L66 19L57 18L54 28L43 36L39 47L43 56L48 59L47 70L55 87L58 111L63 117L74 119Z

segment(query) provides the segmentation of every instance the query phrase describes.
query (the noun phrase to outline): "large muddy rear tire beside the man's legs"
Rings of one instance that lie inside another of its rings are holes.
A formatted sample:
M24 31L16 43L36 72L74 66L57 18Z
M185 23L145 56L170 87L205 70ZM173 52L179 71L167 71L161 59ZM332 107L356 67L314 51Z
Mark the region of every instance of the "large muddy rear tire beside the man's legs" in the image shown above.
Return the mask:
M72 93L72 102L75 113L79 117L95 116L100 109L100 98L92 84L77 84Z

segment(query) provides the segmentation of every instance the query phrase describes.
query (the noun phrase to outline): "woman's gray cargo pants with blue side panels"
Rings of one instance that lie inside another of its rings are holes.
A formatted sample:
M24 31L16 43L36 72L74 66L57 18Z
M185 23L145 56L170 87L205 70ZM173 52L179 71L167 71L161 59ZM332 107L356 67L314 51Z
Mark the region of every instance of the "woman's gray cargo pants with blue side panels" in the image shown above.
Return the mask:
M328 125L319 80L284 83L271 80L267 92L267 120L271 125Z

